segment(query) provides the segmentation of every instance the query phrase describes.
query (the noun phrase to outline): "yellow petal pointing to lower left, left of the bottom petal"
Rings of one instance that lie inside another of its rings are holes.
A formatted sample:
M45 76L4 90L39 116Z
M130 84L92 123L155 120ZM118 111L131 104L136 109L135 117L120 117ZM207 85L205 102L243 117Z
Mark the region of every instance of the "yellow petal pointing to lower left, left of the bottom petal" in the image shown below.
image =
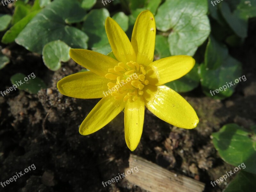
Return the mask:
M115 100L113 96L103 97L84 119L79 132L82 135L89 135L100 130L114 119L124 106L123 100Z

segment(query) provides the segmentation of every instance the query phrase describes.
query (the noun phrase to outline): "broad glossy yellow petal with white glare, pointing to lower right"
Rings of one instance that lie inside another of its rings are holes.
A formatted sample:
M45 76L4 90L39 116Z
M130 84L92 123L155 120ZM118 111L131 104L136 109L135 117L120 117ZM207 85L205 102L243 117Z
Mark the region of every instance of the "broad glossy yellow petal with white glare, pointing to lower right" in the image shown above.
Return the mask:
M146 107L158 118L185 129L193 129L198 124L195 110L171 88L147 85L143 91Z

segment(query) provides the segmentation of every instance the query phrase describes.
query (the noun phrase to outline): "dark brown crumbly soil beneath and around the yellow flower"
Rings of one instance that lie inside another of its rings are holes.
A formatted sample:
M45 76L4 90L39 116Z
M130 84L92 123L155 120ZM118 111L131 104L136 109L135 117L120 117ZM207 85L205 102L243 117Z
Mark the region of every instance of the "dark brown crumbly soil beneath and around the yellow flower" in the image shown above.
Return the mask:
M221 160L211 134L227 123L244 127L256 124L255 23L251 20L243 46L231 50L231 55L243 63L247 78L237 85L236 92L222 101L204 96L200 87L182 94L200 118L193 130L173 127L146 109L144 130L134 152L125 144L123 112L100 131L89 136L79 134L79 125L99 100L66 97L56 88L61 78L82 69L78 64L70 60L51 72L40 55L17 44L2 45L11 63L0 70L0 90L9 88L10 77L18 72L34 72L49 88L38 94L16 90L0 96L0 181L24 172L31 164L36 166L16 182L0 186L0 191L144 191L125 179L105 188L101 184L124 172L131 153L204 182L205 192L221 191L234 176L216 187L210 181L233 168Z

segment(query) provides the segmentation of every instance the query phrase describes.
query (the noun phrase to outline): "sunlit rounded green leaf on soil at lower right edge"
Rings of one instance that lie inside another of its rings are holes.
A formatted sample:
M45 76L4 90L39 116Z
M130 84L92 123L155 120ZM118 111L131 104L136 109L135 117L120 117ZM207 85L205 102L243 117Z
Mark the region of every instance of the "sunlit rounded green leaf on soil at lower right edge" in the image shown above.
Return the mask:
M236 167L244 163L244 171L256 174L256 126L245 130L237 124L226 124L212 136L225 162Z

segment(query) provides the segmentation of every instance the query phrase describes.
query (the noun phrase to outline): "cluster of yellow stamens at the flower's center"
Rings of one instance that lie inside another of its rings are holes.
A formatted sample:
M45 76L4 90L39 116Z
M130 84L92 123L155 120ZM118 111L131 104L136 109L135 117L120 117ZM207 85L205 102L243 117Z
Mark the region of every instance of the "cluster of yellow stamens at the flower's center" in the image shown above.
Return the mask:
M116 80L116 83L108 83L108 89L112 90L111 95L116 100L128 99L133 101L138 99L138 94L143 95L144 85L148 84L145 80L146 71L142 65L130 61L124 64L118 63L114 68L108 69L107 79Z

